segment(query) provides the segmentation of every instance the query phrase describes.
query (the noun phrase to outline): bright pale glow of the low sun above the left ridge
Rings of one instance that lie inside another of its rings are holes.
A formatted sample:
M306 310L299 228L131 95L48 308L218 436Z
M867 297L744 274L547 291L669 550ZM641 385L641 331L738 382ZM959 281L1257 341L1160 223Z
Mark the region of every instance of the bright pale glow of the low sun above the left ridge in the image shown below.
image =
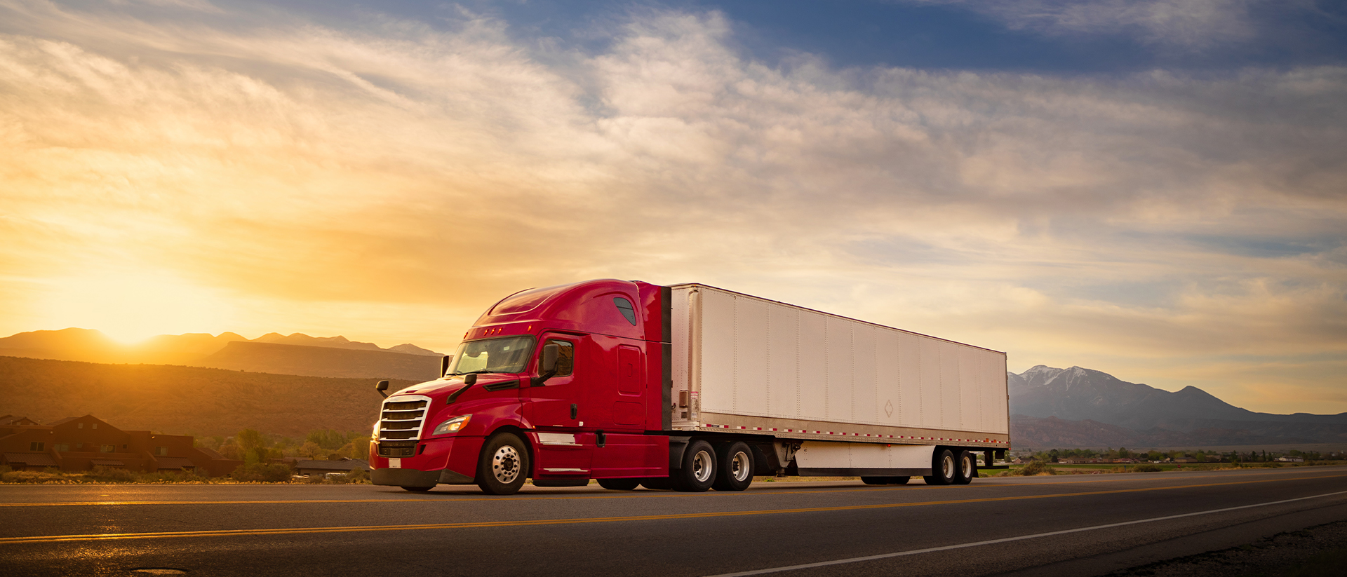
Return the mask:
M51 328L97 328L132 344L155 335L222 332L233 307L221 292L163 272L101 273L51 280L42 305Z

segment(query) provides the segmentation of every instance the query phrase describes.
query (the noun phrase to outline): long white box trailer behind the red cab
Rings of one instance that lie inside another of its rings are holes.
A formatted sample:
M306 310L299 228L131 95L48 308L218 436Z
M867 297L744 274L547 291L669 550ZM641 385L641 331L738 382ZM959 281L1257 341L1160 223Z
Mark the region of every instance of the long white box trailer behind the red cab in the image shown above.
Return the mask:
M1010 447L1006 355L702 284L671 286L674 430L757 471L967 483Z

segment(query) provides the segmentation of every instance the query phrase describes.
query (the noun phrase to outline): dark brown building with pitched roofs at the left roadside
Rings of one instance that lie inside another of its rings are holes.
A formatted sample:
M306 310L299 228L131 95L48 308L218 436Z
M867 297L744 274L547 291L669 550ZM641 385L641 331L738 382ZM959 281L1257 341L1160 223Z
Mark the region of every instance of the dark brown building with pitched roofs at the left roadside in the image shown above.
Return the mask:
M15 471L89 471L116 467L129 471L194 471L229 475L240 460L193 447L187 434L121 430L92 414L66 417L48 425L26 417L0 417L0 455Z

